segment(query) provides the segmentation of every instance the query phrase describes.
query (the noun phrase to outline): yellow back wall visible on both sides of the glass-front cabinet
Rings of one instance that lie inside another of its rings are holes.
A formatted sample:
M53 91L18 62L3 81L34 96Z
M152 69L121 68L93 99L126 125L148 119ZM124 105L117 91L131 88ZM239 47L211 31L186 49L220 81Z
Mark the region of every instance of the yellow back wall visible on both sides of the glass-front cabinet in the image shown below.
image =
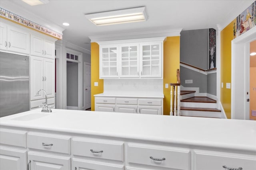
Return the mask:
M167 37L164 42L164 84L177 82L180 68L180 36ZM99 45L91 43L91 110L94 111L94 94L103 93L103 80L99 79ZM94 86L98 82L98 86ZM164 115L170 115L170 86L164 88Z

